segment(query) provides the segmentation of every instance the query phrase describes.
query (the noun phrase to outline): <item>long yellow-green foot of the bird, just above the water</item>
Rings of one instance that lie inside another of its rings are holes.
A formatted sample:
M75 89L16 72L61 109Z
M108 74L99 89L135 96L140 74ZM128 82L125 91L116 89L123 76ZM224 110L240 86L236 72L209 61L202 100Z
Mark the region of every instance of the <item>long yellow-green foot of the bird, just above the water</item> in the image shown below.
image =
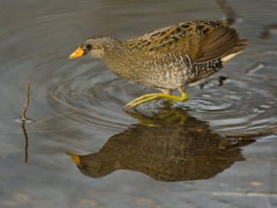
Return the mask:
M163 93L145 94L144 96L134 99L134 101L128 103L123 108L136 107L138 105L141 105L142 103L152 101L152 100L160 100L160 99L168 99L170 101L183 102L188 100L188 94L186 92L181 92L181 96L172 96L172 95L163 94Z

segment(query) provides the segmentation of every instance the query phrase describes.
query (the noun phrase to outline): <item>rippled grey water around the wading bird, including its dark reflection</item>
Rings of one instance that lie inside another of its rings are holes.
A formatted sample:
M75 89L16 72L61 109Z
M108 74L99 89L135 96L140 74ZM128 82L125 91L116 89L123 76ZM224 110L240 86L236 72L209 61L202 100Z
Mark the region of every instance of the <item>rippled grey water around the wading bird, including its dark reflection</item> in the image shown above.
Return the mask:
M230 3L247 49L171 110L124 112L156 91L68 55L90 35L223 18L214 1L1 1L0 207L277 207L276 135L225 138L276 128L277 37L260 35L277 4ZM87 156L78 169L65 153Z

